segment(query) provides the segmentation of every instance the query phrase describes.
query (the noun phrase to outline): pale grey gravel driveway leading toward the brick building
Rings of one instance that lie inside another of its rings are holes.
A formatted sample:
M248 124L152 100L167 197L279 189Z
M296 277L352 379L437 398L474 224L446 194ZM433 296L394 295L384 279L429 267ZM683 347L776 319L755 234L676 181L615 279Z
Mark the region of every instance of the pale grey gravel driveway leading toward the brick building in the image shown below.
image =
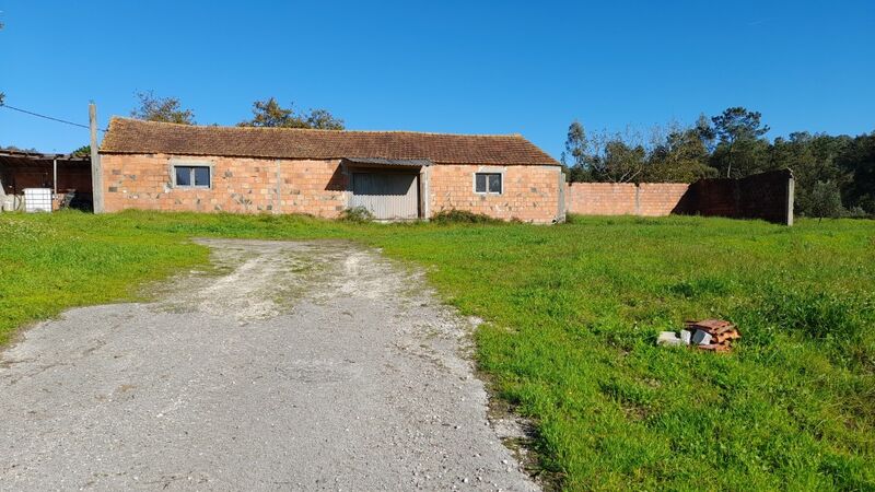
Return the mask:
M536 489L421 272L349 243L202 243L218 272L2 352L0 489Z

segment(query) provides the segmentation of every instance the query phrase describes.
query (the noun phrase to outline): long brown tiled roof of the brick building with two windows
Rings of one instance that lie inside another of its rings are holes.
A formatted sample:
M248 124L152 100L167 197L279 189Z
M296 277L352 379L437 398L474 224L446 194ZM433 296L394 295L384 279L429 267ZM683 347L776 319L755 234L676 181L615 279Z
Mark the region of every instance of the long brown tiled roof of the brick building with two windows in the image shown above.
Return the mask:
M428 159L438 164L559 165L518 134L201 127L114 117L102 153L272 159Z

